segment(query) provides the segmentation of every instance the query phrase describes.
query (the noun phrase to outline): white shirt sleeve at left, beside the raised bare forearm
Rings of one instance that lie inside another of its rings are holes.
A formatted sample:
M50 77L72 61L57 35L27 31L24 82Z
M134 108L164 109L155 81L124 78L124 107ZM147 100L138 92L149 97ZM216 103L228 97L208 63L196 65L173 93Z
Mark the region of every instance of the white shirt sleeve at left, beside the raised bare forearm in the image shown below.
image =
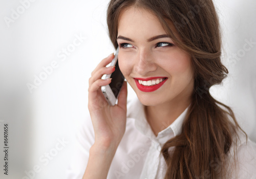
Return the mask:
M94 130L91 117L89 116L84 120L76 133L73 156L67 170L67 179L82 178L89 160L89 150L93 144Z

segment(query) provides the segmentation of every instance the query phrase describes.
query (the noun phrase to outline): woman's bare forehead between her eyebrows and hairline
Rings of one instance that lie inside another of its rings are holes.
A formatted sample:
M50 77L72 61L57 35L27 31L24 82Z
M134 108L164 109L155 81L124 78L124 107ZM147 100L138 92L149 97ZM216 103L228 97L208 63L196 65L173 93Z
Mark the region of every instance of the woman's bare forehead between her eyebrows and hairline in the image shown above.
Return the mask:
M130 7L121 11L118 35L154 36L166 34L157 16L143 8Z

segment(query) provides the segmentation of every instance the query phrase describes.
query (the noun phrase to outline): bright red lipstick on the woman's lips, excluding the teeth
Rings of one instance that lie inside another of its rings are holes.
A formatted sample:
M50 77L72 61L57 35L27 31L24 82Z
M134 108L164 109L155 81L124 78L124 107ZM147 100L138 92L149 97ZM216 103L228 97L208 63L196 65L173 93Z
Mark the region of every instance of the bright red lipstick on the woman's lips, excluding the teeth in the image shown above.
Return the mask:
M153 85L153 86L144 86L144 85L139 84L139 80L150 81L150 80L156 79L156 78L164 78L164 79L161 83ZM148 78L134 78L138 89L143 92L156 91L158 88L160 88L166 82L167 79L168 79L167 77L160 77L160 76L159 77L158 76L157 77L148 77Z

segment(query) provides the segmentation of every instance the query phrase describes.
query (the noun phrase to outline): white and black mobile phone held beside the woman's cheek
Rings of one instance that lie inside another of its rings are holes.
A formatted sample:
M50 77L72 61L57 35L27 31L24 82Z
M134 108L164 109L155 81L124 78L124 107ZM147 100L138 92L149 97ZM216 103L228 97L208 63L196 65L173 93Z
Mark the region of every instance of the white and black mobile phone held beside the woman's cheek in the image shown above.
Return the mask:
M103 78L112 78L111 83L109 85L101 87L101 91L105 96L106 101L108 101L111 106L115 106L115 104L117 103L117 98L124 81L124 76L118 66L118 51L119 48L116 49L115 57L110 64L110 66L115 66L115 71L111 74L105 75L105 77Z

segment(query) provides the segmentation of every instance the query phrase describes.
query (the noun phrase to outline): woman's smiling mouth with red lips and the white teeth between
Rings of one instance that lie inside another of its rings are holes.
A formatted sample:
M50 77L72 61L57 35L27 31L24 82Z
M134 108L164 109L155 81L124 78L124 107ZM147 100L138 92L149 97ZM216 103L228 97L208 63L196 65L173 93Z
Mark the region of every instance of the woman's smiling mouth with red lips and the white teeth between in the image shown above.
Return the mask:
M138 89L143 92L156 91L166 82L167 79L167 77L162 76L149 78L134 78Z

